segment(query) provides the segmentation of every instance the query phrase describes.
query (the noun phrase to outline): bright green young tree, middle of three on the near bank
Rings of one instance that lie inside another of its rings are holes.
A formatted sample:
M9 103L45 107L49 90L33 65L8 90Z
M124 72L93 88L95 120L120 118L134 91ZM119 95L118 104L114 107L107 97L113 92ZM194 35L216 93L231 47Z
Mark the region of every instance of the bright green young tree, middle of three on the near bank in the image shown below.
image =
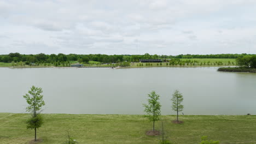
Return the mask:
M161 105L159 103L159 95L155 93L155 91L152 91L150 94L148 94L148 105L143 104L145 107L145 112L148 113L147 117L150 122L153 122L153 131L155 131L155 121L160 120L161 116Z

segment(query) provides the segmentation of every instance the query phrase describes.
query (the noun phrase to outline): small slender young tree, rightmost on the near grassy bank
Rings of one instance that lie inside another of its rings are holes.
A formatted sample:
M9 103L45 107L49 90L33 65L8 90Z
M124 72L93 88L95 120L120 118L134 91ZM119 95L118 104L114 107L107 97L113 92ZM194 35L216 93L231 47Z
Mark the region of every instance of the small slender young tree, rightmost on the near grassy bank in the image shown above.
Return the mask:
M183 101L182 93L180 93L178 90L176 90L172 94L172 110L177 111L177 122L179 121L179 112L181 112L184 108L184 106L181 104Z

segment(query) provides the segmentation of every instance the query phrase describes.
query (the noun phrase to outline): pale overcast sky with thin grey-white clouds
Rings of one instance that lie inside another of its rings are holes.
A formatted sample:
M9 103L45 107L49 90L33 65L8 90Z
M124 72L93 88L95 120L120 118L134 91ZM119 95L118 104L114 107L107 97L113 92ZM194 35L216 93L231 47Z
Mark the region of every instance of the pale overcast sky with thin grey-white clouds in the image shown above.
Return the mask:
M0 54L256 53L255 0L0 1Z

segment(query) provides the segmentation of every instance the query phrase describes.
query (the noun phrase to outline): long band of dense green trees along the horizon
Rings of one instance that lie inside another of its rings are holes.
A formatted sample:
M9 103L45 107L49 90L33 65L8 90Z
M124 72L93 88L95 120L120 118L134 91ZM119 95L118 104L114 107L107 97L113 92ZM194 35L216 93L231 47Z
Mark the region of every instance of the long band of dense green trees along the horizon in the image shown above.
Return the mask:
M62 63L70 61L78 62L89 62L96 61L102 63L120 63L120 62L139 62L139 59L170 59L170 58L238 58L243 56L255 56L248 55L246 53L242 54L218 54L218 55L149 55L145 53L144 55L103 55L103 54L90 54L90 55L77 55L59 53L57 55L51 54L46 55L44 53L39 53L36 55L23 55L18 52L9 53L8 55L0 55L0 62L10 63L10 62L27 62L28 63Z

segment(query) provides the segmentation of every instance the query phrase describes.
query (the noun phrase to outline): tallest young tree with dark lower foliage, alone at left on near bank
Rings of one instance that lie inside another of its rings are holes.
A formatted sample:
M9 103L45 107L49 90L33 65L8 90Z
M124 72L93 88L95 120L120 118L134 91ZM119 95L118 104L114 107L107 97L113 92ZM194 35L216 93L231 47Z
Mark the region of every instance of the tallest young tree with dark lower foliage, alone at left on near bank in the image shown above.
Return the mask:
M27 121L27 129L34 129L34 141L37 141L37 128L43 124L42 117L39 115L42 106L45 105L42 92L42 88L32 86L28 94L23 96L28 104L26 111L32 114Z

